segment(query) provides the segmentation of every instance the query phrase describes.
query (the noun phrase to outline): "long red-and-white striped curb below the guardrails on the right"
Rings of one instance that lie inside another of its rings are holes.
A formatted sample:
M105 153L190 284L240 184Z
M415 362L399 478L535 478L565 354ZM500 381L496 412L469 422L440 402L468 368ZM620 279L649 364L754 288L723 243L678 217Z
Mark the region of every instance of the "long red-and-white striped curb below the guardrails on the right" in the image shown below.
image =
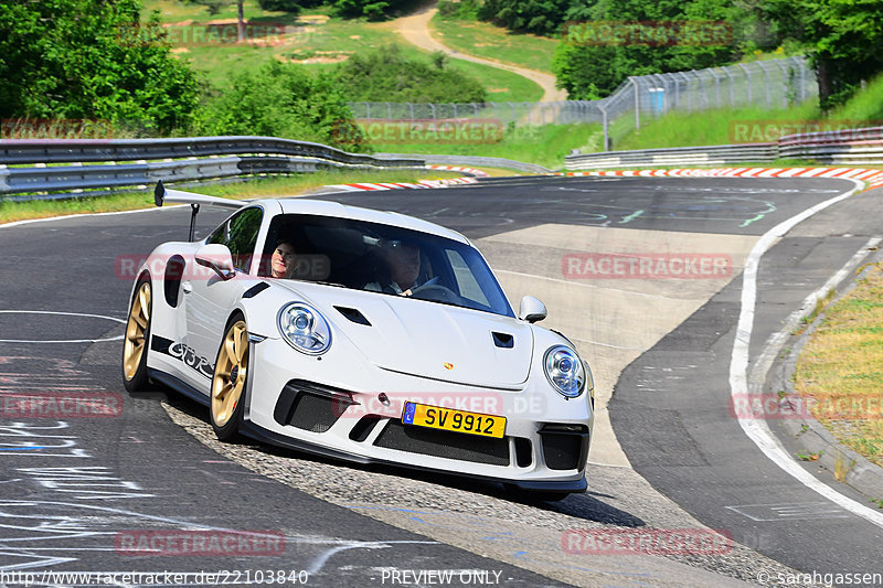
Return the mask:
M859 168L713 168L672 170L570 171L557 175L620 178L844 178L861 180L868 190L883 186L883 170Z

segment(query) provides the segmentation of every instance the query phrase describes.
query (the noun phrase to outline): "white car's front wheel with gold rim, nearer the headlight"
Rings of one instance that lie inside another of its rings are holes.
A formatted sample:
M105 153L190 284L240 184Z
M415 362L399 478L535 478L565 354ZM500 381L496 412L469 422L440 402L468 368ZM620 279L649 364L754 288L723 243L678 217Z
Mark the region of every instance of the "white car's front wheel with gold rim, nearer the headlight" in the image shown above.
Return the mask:
M248 331L242 316L233 317L224 329L217 350L209 402L214 434L222 441L240 436L245 411L245 386L248 376Z

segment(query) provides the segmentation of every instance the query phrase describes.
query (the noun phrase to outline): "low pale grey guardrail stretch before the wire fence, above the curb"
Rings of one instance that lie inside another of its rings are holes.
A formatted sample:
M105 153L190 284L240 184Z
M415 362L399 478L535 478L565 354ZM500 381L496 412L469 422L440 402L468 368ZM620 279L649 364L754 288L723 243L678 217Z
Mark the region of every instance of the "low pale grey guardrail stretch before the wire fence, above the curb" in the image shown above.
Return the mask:
M719 145L566 156L564 167L570 171L578 171L642 165L728 165L746 161L775 161L777 157L777 143Z

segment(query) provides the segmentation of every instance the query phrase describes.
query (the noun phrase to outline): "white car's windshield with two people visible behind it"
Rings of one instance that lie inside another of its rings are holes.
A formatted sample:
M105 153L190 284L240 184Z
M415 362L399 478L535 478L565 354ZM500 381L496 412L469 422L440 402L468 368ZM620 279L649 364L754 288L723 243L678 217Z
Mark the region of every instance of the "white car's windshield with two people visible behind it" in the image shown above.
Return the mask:
M401 227L284 214L273 220L260 275L412 297L513 317L470 245Z

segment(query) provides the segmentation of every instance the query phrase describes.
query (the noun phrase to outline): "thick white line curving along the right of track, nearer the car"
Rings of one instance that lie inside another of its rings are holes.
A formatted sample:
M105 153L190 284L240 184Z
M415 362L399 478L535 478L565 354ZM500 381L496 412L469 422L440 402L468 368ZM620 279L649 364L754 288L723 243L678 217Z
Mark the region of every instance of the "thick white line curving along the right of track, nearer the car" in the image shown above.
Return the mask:
M760 257L766 253L775 243L775 240L784 236L788 231L794 228L798 223L809 218L817 212L820 212L828 206L836 204L842 200L848 199L864 185L862 182L852 180L855 188L840 194L839 196L826 200L811 209L808 209L800 214L797 214L787 221L779 223L769 231L767 231L757 244L752 248L748 254L748 260L743 271L742 282L742 308L738 316L738 324L736 328L736 340L733 343L733 355L730 363L730 394L733 400L738 395L748 394L748 352L752 338L752 328L754 324L755 303L757 300L757 269L760 263ZM791 456L779 443L766 421L763 419L740 418L740 426L745 431L745 435L754 441L754 443L769 458L776 466L781 468L786 473L795 478L808 489L821 494L830 500L838 506L861 516L870 523L883 527L883 513L869 509L868 506L855 502L854 500L844 496L831 487L813 478L800 464L795 461Z

